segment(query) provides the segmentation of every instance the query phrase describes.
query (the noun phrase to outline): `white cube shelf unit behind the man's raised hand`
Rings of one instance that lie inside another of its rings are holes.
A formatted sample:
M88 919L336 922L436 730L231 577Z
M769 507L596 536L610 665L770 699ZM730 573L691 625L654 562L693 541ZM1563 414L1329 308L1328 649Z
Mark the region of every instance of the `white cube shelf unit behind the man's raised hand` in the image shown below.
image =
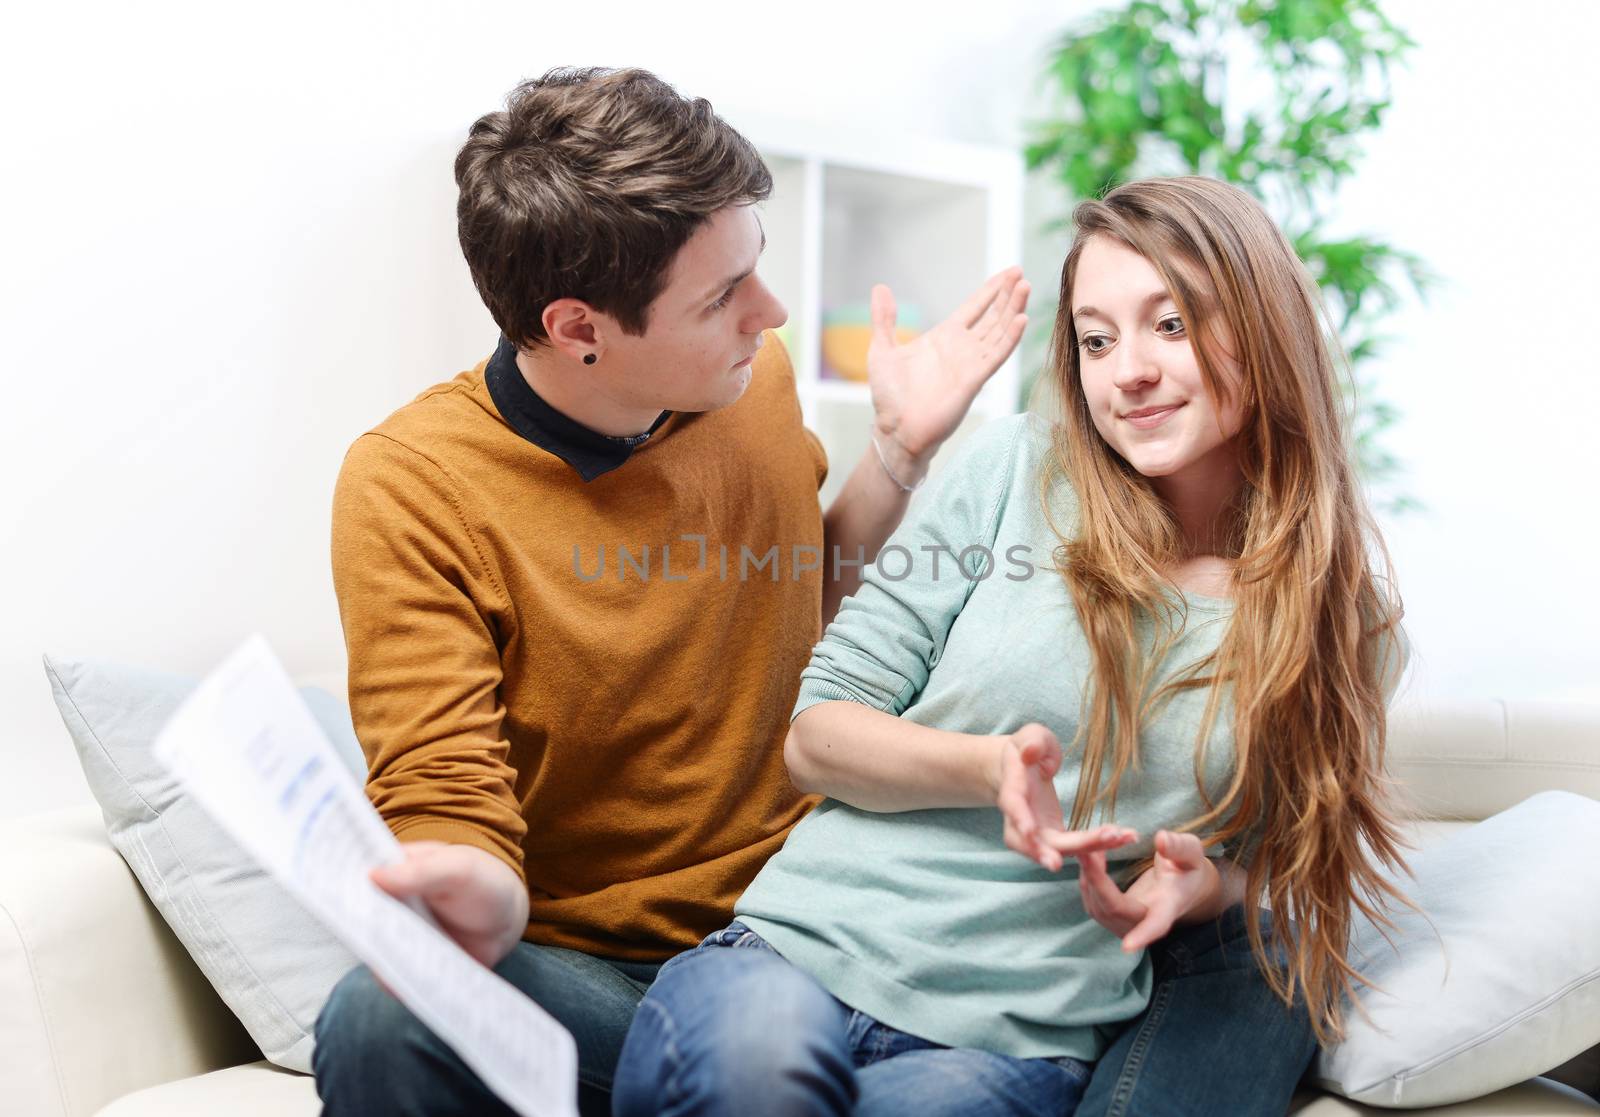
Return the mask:
M1002 267L1022 262L1022 160L1010 149L904 136L846 136L794 122L736 126L773 171L762 208L762 278L789 307L782 330L800 406L829 456L824 507L869 451L867 386L829 379L822 318L867 304L874 283L915 306L931 328ZM904 323L902 315L902 323ZM934 459L982 422L1021 410L1013 355L979 392L962 429Z

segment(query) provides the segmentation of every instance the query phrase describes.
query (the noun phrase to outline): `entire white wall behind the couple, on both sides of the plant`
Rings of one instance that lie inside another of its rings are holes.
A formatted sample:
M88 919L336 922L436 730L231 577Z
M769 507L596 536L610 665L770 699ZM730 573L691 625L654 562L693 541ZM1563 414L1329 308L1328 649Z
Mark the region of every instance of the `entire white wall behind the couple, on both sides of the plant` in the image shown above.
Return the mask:
M909 3L11 16L0 816L83 795L43 650L202 671L259 629L293 671L339 671L334 472L357 434L493 342L454 246L450 162L518 78L640 64L734 123L1016 142L1032 58L1085 8L989 3L960 22ZM1350 213L1453 282L1397 323L1410 336L1389 376L1430 506L1390 530L1411 631L1430 687L1600 696L1597 538L1579 507L1600 403L1579 94L1600 14L1394 13L1422 46Z

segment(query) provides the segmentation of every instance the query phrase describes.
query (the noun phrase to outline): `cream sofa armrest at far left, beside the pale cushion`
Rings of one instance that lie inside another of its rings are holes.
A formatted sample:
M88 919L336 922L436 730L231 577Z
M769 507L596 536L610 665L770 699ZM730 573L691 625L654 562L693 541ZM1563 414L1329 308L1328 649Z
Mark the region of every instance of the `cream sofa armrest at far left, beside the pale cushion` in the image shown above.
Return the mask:
M88 1117L259 1058L96 807L0 823L0 1112Z

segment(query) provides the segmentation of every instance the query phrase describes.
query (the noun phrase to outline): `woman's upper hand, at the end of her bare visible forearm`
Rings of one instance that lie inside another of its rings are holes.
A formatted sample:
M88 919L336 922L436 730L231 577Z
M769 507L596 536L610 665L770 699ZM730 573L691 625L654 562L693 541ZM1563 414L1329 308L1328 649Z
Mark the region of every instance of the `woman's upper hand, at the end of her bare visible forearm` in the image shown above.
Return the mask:
M1043 725L1024 725L1002 739L990 784L995 789L995 807L1005 819L1006 848L1056 872L1064 856L1094 851L1104 864L1106 850L1138 840L1138 834L1120 826L1066 829L1061 797L1056 795L1059 770L1061 743Z

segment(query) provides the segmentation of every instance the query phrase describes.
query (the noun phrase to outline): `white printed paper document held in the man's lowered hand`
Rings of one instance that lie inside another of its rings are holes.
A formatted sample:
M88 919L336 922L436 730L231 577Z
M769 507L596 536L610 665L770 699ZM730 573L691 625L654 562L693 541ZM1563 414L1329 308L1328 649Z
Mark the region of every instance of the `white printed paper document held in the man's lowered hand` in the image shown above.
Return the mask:
M507 1106L576 1117L578 1048L566 1029L368 879L400 859L400 843L262 637L189 696L155 755Z

